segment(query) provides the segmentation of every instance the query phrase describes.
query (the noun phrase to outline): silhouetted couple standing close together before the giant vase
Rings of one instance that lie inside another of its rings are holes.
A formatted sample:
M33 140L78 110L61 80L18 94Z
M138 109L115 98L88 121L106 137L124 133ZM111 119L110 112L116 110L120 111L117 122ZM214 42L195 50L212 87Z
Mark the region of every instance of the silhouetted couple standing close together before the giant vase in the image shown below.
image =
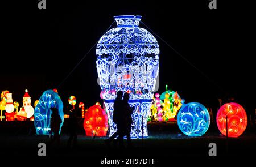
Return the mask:
M123 99L122 99L123 98ZM115 132L109 139L105 140L107 144L112 142L118 136L120 147L123 147L123 137L127 138L127 146L131 147L131 123L133 121L131 115L133 109L129 103L129 93L123 95L122 91L117 92L117 98L114 101L113 121L117 125L117 132Z

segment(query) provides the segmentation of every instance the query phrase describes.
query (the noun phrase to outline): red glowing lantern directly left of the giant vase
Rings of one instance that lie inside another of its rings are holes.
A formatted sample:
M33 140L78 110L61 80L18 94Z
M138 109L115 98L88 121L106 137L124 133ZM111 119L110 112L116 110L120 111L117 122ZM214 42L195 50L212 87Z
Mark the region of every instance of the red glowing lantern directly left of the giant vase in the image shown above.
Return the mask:
M86 136L106 136L108 127L108 115L105 110L100 105L91 106L84 117Z

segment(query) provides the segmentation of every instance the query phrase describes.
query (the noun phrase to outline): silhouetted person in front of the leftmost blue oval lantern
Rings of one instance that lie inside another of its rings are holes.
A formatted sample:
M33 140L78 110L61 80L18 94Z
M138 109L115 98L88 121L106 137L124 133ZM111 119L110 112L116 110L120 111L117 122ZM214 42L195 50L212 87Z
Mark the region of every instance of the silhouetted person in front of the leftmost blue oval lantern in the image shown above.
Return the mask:
M51 131L54 134L53 139L51 140L51 144L57 140L57 145L60 144L60 124L62 120L59 115L59 110L57 108L52 108L52 115L51 115Z

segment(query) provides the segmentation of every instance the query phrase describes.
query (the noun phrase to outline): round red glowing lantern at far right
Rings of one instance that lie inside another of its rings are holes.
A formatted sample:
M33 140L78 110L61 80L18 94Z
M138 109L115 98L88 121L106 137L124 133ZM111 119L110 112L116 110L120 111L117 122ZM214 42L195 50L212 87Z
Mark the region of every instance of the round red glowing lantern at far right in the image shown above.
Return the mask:
M247 115L240 104L231 102L221 106L217 113L218 130L226 136L226 116L228 116L228 137L237 138L247 126Z

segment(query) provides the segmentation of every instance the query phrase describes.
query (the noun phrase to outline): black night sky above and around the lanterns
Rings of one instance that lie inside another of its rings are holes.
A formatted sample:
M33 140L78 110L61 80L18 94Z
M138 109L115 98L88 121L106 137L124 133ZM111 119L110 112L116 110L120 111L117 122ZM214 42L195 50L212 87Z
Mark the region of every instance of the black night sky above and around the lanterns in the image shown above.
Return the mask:
M112 24L114 15L132 14L142 15L143 23L210 79L156 37L159 92L168 82L186 102L213 106L218 97L228 96L253 101L255 14L245 2L217 0L217 10L209 10L208 0L123 1L126 5L121 1L46 1L46 10L39 10L36 0L1 2L0 91L8 89L14 101L22 102L24 89L34 102L53 88L66 106L70 95L87 106L99 101L96 48L60 83Z

